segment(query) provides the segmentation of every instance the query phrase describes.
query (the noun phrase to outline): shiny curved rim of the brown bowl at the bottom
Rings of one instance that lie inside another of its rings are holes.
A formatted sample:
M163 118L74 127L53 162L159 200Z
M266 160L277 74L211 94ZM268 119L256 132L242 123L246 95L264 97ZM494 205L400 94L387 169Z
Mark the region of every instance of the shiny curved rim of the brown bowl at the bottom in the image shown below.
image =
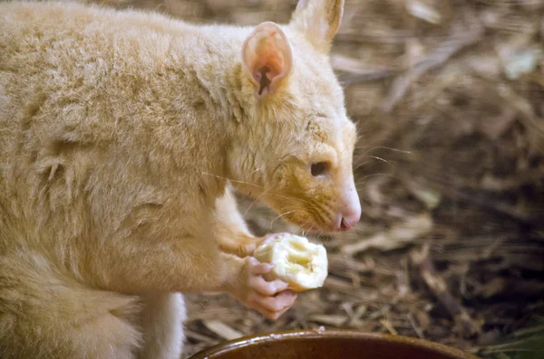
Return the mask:
M257 335L245 335L238 339L229 340L219 343L218 345L210 346L207 349L193 354L189 359L210 359L213 355L225 354L248 345L254 345L270 340L295 340L296 338L319 338L319 337L334 337L334 338L362 338L362 339L379 339L388 343L402 343L413 345L414 347L431 349L437 354L445 354L452 358L459 359L478 359L477 356L461 351L457 348L452 348L447 345L434 343L428 340L418 339L403 335L388 335L383 333L364 332L356 329L340 329L321 326L314 329L295 329L295 330L280 330L267 332Z

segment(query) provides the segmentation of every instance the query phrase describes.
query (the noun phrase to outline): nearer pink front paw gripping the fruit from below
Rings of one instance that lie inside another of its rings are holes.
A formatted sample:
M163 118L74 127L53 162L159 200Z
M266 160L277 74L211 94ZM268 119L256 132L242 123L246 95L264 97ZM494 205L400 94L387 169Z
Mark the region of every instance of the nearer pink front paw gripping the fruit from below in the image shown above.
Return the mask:
M277 319L295 304L296 293L287 290L287 283L281 279L264 279L272 268L271 264L261 263L253 257L246 258L240 292L234 297L263 316Z

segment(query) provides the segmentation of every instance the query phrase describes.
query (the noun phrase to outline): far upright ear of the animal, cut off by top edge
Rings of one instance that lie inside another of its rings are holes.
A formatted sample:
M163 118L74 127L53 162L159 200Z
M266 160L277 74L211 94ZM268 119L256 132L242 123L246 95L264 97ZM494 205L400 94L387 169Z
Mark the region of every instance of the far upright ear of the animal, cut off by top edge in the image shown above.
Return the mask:
M344 13L344 0L299 0L291 20L318 51L328 52Z

